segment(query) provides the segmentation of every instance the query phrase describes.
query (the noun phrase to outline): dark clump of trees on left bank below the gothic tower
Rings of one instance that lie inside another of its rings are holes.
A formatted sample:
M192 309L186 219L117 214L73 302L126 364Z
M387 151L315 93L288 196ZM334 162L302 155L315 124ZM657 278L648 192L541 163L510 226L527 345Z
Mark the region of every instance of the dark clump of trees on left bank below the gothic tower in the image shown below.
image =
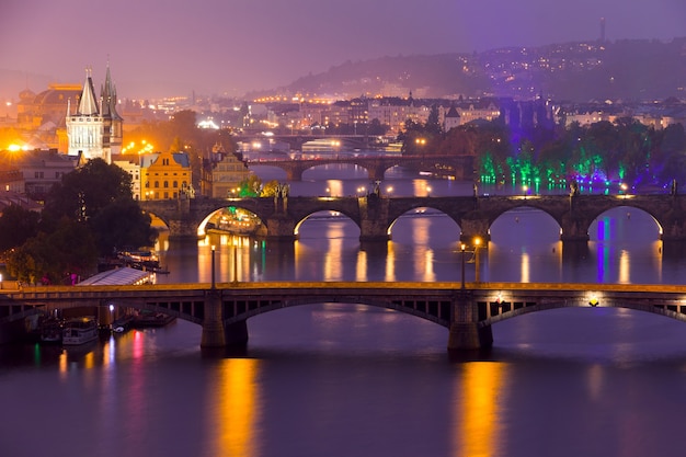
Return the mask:
M5 212L0 233L12 228L22 235L2 239L4 248L13 248L10 274L30 282L45 276L53 283L68 273L88 275L99 256L116 247L148 245L155 233L150 217L133 199L129 174L101 159L64 175L39 219L14 208Z

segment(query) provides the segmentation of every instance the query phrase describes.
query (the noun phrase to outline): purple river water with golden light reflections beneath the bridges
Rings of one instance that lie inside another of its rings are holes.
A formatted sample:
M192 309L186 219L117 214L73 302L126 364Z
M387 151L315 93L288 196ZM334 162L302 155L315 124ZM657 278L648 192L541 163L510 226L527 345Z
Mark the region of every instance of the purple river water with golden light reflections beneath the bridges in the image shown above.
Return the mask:
M368 185L363 170L329 165L306 172L291 195ZM381 185L396 195L472 192L402 171ZM430 208L369 245L346 218L317 216L294 243L162 237L171 273L158 282L209 282L213 244L220 282L459 281L459 227ZM682 252L663 247L654 221L633 209L599 217L586 249L562 245L556 222L535 210L503 215L491 237L466 263L467 281L686 277ZM686 327L668 318L603 307L531 313L494 324L493 349L460 358L447 354L447 329L355 304L284 309L248 327L247 352L233 356L202 352L201 328L183 321L76 350L0 347L0 456L684 454Z

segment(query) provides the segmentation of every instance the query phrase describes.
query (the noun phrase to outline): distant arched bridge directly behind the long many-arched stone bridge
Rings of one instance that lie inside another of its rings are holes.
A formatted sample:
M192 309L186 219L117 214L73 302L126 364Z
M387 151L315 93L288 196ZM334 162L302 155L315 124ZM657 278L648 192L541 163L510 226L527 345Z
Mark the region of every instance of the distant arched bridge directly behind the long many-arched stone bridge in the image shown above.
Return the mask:
M286 181L302 181L302 172L313 167L330 163L346 163L367 170L370 181L381 181L386 171L393 167L405 167L437 172L458 181L473 179L472 156L334 156L331 158L297 160L248 160L249 165L276 167L286 172Z

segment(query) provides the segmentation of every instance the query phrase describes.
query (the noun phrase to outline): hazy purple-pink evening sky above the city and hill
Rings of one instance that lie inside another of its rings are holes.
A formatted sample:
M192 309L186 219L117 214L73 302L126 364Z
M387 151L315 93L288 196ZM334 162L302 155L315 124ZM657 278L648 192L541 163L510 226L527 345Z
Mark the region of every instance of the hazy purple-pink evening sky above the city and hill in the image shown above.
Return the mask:
M601 18L608 39L686 36L685 0L0 0L0 96L87 66L99 89L107 61L119 98L242 95L346 60L596 39Z

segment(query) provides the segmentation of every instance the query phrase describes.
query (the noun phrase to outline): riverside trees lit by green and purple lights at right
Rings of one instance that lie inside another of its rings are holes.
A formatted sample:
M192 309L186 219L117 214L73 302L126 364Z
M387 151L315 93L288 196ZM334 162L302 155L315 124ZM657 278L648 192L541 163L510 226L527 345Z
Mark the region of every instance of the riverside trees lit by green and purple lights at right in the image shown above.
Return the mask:
M686 133L681 124L656 130L627 117L567 128L533 125L515 132L495 119L447 133L434 130L428 122L408 119L399 135L403 153L473 156L483 182L595 180L637 186L686 179Z

